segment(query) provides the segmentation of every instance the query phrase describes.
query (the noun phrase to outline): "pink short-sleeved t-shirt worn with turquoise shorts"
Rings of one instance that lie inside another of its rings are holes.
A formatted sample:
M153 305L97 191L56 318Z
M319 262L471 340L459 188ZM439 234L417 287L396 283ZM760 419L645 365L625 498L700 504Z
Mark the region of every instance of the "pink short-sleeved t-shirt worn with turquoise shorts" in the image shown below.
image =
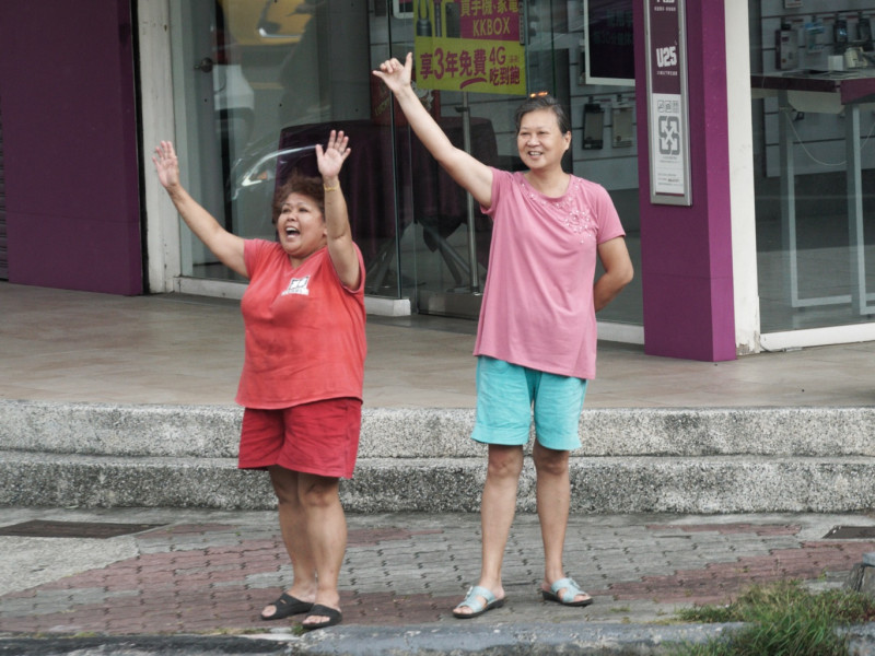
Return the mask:
M522 172L492 169L492 216L475 355L595 377L597 246L626 233L604 187L571 176L550 198Z

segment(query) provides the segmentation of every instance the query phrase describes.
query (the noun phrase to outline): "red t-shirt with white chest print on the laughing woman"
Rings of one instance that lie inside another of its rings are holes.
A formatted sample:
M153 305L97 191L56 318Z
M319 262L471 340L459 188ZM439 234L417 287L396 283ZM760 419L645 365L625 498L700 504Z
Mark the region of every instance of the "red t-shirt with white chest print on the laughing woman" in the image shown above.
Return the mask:
M236 401L247 408L362 398L364 262L355 247L361 282L343 286L328 248L293 268L282 247L247 239L249 285L241 302L246 352Z

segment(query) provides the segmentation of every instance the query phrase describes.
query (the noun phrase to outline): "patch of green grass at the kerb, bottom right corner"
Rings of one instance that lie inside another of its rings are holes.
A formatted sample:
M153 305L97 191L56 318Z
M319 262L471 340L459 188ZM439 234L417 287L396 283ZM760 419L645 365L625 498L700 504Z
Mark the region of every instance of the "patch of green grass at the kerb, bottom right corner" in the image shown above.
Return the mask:
M798 582L755 586L728 606L697 606L685 622L745 622L731 639L679 645L678 656L845 656L848 639L836 629L875 621L875 598L831 589L810 593Z

